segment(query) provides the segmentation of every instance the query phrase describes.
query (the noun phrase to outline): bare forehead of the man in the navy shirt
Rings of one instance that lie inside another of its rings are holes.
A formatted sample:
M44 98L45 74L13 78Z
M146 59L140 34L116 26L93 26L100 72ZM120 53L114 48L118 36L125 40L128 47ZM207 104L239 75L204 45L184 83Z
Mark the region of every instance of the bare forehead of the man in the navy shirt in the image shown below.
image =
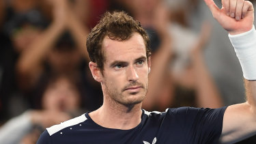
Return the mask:
M128 40L111 40L106 36L102 42L102 50L106 61L127 61L146 57L145 42L139 33L133 33Z

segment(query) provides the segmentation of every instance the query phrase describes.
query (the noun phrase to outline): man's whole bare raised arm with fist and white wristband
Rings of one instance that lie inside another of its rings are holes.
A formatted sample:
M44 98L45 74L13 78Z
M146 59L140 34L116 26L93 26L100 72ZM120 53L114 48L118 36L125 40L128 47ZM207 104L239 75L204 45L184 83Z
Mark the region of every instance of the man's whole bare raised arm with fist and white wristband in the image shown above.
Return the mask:
M219 9L213 0L205 0L212 15L229 32L244 73L246 102L231 105L225 111L221 143L235 143L256 134L256 31L250 1L223 0Z

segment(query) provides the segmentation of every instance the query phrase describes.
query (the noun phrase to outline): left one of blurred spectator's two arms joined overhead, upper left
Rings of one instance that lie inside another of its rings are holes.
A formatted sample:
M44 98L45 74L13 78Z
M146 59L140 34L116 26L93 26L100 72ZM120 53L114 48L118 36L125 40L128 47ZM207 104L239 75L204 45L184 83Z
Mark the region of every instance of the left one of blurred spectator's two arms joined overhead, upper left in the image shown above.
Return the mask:
M62 13L61 6L58 5L57 1L53 2L53 6L55 8L53 10L53 23L29 44L28 48L21 53L18 59L16 69L20 87L23 89L28 89L36 81L36 78L42 72L44 57L51 51L55 41L66 27L66 17Z

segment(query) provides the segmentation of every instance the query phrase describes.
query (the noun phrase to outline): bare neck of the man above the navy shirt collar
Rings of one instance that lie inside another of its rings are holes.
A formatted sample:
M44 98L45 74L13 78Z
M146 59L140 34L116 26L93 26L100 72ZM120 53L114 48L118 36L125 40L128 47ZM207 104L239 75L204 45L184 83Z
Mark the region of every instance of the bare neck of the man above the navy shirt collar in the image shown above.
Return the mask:
M109 104L104 100L100 109L89 113L89 115L96 124L104 128L129 130L139 125L141 113L141 103L124 106L117 103Z

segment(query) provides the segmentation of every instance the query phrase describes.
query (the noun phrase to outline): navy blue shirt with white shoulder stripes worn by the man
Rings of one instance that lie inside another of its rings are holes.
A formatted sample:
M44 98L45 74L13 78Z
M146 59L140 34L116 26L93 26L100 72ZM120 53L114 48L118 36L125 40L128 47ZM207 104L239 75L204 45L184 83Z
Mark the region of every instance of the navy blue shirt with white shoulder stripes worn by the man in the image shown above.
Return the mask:
M225 109L182 107L164 113L142 110L141 123L130 130L104 128L88 113L46 128L38 144L47 143L217 143ZM113 121L114 123L115 121Z

